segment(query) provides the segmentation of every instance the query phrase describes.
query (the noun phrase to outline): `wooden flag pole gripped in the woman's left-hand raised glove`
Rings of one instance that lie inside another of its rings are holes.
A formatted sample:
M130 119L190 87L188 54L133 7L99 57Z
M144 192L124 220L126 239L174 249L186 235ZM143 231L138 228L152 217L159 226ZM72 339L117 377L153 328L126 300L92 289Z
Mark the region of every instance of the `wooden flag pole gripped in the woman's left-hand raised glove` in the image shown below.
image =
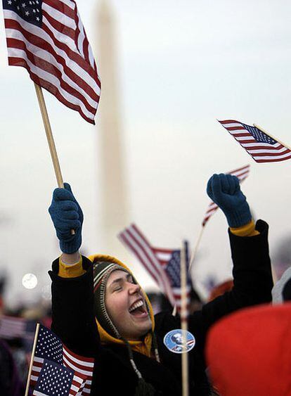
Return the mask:
M60 162L58 161L58 153L56 151L56 144L53 140L53 132L51 132L51 124L48 118L48 112L46 110L46 103L44 101L44 95L42 94L41 87L34 82L34 88L37 92L37 99L39 100L39 108L41 110L42 120L44 122L44 129L46 131L46 139L48 141L49 151L51 153L51 159L53 160L53 169L55 170L58 187L64 188L62 172L60 172ZM75 235L75 230L71 229L71 234Z

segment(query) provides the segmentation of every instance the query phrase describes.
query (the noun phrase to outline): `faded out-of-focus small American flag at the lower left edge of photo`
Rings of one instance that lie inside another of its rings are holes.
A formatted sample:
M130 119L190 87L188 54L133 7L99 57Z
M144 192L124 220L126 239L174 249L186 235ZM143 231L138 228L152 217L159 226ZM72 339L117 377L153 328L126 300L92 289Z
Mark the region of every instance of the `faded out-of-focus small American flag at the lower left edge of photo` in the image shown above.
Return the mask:
M33 340L35 326L35 321L4 315L0 319L0 337L6 340L13 338Z

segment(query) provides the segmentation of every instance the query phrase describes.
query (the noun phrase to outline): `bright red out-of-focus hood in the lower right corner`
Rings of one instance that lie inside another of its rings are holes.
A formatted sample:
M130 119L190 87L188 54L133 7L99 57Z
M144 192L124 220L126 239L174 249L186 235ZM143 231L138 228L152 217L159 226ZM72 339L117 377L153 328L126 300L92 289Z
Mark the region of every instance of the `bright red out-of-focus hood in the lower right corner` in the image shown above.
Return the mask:
M220 396L291 395L291 302L234 312L207 336L209 376Z

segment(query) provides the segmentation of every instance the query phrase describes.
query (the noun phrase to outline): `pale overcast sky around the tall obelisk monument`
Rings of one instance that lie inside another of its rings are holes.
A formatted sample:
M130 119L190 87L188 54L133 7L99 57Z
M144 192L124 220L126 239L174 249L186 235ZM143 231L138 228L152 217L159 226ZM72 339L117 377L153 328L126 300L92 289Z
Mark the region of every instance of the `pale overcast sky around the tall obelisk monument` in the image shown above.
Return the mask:
M96 47L97 3L77 3ZM243 191L270 224L272 255L291 231L291 162L257 165L216 119L255 122L291 146L290 1L115 0L112 6L131 220L154 245L179 247L182 238L194 244L209 177L250 163ZM48 284L58 255L47 213L56 181L33 84L23 68L8 68L2 19L0 30L0 214L10 218L0 227L0 269L11 276L12 302L20 295L31 300ZM84 248L98 252L98 122L93 127L45 97L63 177L85 213ZM230 274L219 212L207 224L195 266L198 283L208 274L220 281ZM26 272L39 276L33 292L21 286Z

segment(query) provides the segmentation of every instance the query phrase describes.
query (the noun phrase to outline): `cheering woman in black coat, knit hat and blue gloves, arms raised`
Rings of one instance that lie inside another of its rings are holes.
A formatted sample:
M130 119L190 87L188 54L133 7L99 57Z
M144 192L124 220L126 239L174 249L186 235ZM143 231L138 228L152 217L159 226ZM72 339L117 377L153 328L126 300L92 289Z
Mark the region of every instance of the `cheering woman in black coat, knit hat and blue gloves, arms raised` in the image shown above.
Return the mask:
M212 392L204 357L209 327L237 309L270 302L273 286L268 225L254 224L238 179L214 174L207 193L230 227L234 284L188 318L189 394L195 396ZM95 358L91 395L181 395L181 353L171 345L179 316L154 316L129 267L115 257L79 255L83 214L68 184L53 192L49 212L63 253L49 272L52 330L73 352Z

